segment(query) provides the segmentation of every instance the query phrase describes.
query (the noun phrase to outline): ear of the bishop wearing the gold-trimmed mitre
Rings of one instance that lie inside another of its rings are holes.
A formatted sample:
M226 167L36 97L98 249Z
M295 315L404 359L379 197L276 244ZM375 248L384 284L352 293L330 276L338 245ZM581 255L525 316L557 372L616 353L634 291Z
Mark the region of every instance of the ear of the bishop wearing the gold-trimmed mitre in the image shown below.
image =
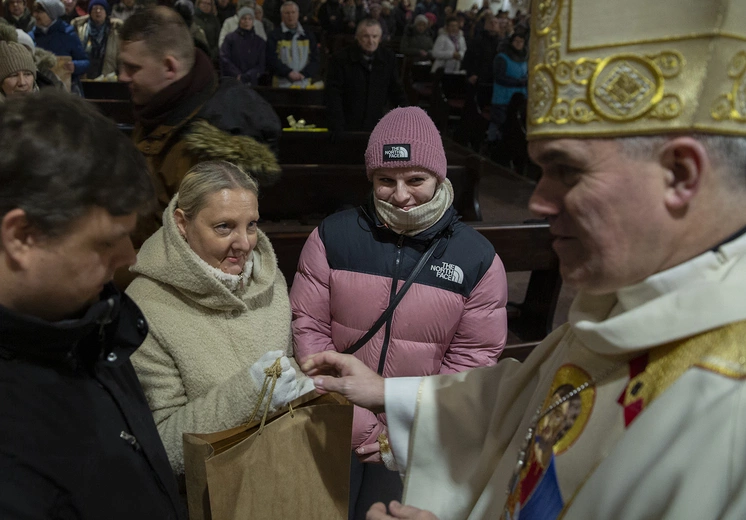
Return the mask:
M692 137L676 137L660 150L661 165L666 171L666 207L685 210L702 188L712 161L702 143Z

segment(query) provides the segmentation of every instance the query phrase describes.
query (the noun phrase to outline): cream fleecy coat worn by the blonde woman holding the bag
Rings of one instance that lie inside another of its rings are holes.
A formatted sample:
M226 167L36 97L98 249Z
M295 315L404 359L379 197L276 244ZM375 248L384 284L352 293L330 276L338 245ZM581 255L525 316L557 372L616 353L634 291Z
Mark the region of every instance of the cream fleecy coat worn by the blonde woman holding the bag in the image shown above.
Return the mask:
M206 269L174 222L177 197L163 227L140 249L127 289L150 326L132 356L174 472L184 471L182 434L214 432L245 422L257 399L248 368L270 350L292 353L290 303L264 233L241 297Z

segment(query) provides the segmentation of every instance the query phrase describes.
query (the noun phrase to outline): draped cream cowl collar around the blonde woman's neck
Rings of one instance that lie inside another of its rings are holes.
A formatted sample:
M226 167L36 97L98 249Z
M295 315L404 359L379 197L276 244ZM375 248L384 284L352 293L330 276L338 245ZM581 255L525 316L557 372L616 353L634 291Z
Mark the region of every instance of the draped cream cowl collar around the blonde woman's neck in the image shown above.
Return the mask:
M244 269L247 278L225 273L217 276L214 272L217 270L200 259L181 237L174 220L177 201L178 195L163 213L163 227L140 248L132 272L169 285L196 303L215 310L246 310L271 298L278 271L267 236L257 231L257 244L249 258L253 265ZM243 288L234 291L233 286L242 278Z

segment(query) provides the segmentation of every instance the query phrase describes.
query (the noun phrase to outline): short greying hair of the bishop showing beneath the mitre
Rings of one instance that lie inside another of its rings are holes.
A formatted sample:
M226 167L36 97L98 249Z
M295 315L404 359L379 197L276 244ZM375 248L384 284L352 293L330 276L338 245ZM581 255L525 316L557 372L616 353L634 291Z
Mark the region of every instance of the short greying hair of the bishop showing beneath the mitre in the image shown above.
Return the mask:
M636 159L652 158L667 141L676 135L621 137L615 139L622 153ZM746 137L693 134L702 143L715 168L725 170L725 181L734 189L746 190Z

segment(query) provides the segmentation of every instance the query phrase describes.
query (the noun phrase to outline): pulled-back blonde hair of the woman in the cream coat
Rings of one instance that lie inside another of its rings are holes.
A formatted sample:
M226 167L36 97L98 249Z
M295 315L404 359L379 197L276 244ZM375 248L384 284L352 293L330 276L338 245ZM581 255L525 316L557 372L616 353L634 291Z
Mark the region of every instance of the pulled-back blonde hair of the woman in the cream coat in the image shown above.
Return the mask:
M177 207L191 220L207 203L207 197L221 190L242 188L259 196L259 187L241 168L227 161L205 161L192 167L179 185Z

